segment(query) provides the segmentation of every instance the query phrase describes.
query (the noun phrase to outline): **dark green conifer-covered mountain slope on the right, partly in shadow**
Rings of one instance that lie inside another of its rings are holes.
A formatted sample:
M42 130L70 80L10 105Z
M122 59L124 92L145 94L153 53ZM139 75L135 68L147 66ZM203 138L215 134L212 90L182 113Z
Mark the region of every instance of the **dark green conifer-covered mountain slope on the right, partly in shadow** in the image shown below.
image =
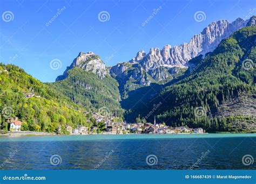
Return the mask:
M134 119L138 114L145 117L161 102L149 119L157 115L158 121L173 126L188 124L211 131L232 131L234 122L247 122L235 130L255 130L255 113L232 110L234 104L230 104L244 97L249 103L246 107L249 105L255 112L255 39L256 26L235 32L205 58L194 58L197 69L190 76L164 88L143 107L131 109L126 118ZM225 103L230 113L221 116Z

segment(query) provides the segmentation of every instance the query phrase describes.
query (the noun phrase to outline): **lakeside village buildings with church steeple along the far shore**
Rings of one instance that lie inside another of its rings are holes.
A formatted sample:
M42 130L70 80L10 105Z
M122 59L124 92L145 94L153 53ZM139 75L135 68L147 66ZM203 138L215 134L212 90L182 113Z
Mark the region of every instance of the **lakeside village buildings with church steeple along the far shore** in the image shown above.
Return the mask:
M156 117L154 118L154 123L126 123L126 122L114 122L112 119L107 118L102 115L97 115L95 112L92 113L92 117L96 119L97 123L102 123L102 128L99 131L97 126L92 126L90 129L83 125L78 125L76 128L72 128L70 125L64 126L65 131L69 135L92 135L92 134L104 134L104 135L114 135L114 134L127 134L127 133L151 133L151 134L171 134L171 133L204 133L202 128L192 129L187 126L180 126L172 128L170 126L163 124L158 124L156 122ZM9 121L10 132L19 132L21 130L22 122L18 121L18 118L12 118ZM60 135L62 132L61 127L57 128L56 134ZM25 133L25 131L24 131Z

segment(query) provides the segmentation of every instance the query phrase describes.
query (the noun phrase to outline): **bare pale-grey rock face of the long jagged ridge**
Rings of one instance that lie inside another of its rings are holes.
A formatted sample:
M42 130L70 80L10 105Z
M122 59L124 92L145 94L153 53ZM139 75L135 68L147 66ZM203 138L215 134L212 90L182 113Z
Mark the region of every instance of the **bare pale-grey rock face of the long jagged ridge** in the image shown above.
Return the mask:
M233 32L246 26L248 20L241 18L230 23L228 20L219 20L208 25L200 34L196 34L188 43L171 47L165 45L163 49L151 48L146 54L139 51L129 62L139 63L143 69L157 81L167 79L170 68L188 67L188 61L198 55L212 52L221 40L229 37ZM253 21L252 21L253 22ZM124 70L124 68L123 68Z

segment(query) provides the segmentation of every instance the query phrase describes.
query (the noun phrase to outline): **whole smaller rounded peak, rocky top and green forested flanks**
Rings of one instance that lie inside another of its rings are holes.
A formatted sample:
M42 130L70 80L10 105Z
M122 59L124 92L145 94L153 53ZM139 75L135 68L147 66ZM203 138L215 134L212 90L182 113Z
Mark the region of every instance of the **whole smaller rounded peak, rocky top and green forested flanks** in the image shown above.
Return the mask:
M122 117L118 82L98 55L80 52L63 75L49 86L90 111Z

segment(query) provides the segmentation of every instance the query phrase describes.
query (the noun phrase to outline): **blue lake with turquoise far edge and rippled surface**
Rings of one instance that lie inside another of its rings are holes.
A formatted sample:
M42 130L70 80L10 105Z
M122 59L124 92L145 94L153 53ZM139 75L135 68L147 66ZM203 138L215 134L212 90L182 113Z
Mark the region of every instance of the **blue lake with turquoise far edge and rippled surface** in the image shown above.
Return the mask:
M255 169L255 159L256 134L0 137L1 169Z

